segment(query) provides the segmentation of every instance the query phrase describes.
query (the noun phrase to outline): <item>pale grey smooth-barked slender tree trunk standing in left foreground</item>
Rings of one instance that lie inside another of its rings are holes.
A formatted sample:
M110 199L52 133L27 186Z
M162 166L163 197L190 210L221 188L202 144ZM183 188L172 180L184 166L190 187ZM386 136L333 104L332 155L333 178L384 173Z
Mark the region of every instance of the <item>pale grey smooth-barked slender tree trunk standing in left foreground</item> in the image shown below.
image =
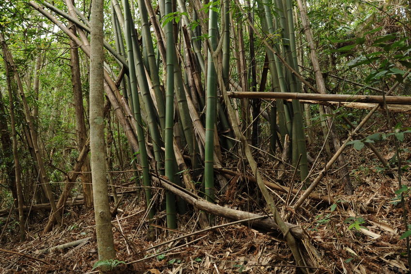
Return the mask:
M110 206L107 197L106 147L104 145L103 0L91 6L90 150L94 215L99 260L115 257ZM104 271L104 269L103 269Z

